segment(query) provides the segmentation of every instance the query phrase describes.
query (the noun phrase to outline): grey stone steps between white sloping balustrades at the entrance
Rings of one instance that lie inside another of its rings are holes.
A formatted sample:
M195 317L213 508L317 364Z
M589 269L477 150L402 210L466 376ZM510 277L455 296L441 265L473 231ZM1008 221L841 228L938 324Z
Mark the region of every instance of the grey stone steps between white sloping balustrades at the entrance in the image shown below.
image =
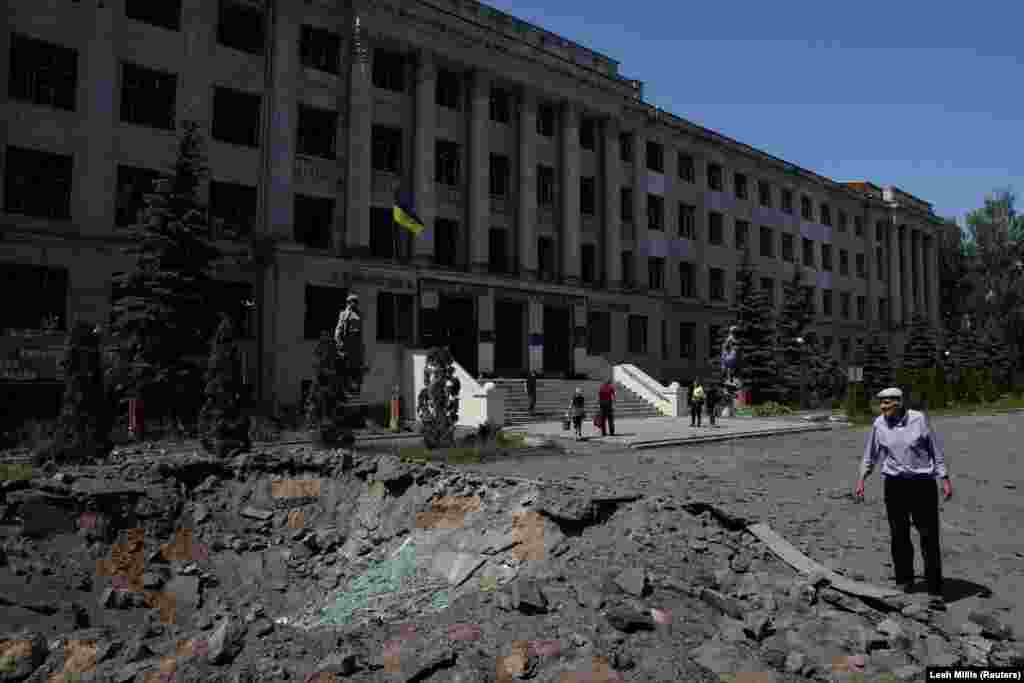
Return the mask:
M489 380L505 389L505 424L515 426L532 422L556 422L562 419L568 410L569 400L577 387L583 389L587 399L587 420L593 419L598 410L597 390L601 386L598 380L537 380L537 408L534 415L529 414L529 397L526 395L526 380L495 379ZM654 418L662 414L646 400L633 393L622 384L615 384L615 419L623 418Z

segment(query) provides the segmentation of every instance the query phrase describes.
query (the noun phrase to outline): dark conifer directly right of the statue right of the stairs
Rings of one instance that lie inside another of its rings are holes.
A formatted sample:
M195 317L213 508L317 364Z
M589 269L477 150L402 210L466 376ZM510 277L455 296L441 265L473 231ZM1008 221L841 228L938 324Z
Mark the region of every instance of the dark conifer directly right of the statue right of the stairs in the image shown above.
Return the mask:
M775 359L774 313L768 293L755 286L751 250L736 271L736 341L739 349L739 379L751 392L751 400L761 403L778 400L781 387Z

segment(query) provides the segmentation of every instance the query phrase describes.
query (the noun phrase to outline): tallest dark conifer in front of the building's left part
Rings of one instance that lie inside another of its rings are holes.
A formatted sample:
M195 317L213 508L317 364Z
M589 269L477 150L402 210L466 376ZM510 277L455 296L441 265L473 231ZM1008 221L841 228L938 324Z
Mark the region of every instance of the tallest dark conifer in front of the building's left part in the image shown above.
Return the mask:
M210 269L220 252L209 241L199 200L206 177L199 124L185 123L169 176L145 197L130 230L134 267L115 280L111 328L121 359L119 395L144 398L147 413L190 419L215 313Z

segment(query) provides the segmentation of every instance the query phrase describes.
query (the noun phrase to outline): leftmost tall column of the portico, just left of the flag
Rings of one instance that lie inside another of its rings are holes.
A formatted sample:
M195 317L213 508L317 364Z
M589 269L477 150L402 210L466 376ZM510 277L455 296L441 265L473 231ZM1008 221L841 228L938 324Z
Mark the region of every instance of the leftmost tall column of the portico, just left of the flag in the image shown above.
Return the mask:
M365 0L354 3L353 19L366 22ZM370 255L370 193L373 181L373 84L370 63L352 58L348 116L348 183L345 251L352 256Z

